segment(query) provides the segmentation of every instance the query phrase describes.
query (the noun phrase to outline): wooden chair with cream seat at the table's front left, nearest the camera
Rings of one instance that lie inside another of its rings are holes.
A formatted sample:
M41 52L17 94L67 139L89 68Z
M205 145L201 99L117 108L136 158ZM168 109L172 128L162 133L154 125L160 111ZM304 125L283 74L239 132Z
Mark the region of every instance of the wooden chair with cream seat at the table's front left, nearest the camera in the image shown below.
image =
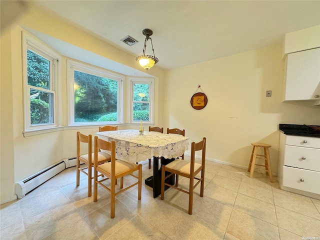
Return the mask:
M103 164L98 164L98 150L110 151L111 161ZM138 185L138 200L141 199L141 183L142 183L142 165L129 163L122 160L115 160L115 141L105 141L94 136L94 183L93 183L93 201L97 201L97 184L101 185L104 189L111 193L111 206L110 206L110 217L114 217L115 208L115 196L135 185ZM134 175L133 172L138 171L138 176ZM98 172L106 176L100 180L97 179ZM138 179L137 182L123 188L123 176L131 175ZM120 190L115 192L116 179L120 178ZM107 187L102 182L110 179L110 187Z

